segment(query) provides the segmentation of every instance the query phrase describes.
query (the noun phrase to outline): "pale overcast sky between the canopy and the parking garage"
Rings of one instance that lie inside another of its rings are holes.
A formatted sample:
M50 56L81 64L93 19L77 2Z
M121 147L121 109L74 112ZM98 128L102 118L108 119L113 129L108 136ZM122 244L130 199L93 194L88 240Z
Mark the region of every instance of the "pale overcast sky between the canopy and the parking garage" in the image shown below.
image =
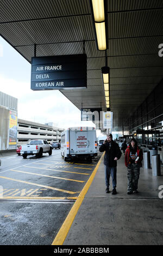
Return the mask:
M58 127L95 126L59 90L30 89L31 65L0 36L0 91L18 99L18 118ZM98 132L99 133L99 132Z

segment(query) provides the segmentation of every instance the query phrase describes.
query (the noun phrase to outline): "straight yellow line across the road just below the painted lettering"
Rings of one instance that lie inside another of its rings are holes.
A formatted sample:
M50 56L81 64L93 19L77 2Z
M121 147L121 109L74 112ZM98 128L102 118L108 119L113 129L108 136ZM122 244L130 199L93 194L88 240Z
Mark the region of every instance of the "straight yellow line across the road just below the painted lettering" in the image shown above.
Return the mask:
M76 200L78 197L3 197L3 199L47 199L47 200L65 200L65 199L70 199L70 200Z

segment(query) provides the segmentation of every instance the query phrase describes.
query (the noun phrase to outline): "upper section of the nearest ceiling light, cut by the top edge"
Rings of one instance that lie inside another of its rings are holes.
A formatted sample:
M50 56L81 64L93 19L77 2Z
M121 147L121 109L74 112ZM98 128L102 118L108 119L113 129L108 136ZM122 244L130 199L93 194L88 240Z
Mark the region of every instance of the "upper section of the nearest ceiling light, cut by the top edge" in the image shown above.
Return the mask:
M95 22L104 21L105 20L104 1L92 0L92 7L93 7Z

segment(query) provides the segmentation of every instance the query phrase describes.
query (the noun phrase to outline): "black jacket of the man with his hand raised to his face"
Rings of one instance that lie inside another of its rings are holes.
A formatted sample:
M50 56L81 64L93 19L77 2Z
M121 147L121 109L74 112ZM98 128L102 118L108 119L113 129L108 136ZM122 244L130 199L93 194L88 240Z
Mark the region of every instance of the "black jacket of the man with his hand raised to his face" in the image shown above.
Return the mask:
M117 166L117 161L114 159L115 157L117 157L117 159L120 159L122 153L121 153L120 147L116 142L111 141L111 143L106 142L105 144L102 144L101 147L99 147L99 151L100 152L105 151L105 156L104 156L105 166L109 166L109 167Z

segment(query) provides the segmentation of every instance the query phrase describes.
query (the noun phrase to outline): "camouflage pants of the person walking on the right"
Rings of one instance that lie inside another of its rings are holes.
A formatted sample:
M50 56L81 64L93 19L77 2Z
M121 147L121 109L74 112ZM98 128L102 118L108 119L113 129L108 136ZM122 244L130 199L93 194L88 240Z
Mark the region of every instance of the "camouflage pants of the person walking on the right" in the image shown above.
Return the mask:
M128 178L128 191L133 192L137 190L138 180L140 174L140 166L136 163L131 163L127 167L127 178Z

